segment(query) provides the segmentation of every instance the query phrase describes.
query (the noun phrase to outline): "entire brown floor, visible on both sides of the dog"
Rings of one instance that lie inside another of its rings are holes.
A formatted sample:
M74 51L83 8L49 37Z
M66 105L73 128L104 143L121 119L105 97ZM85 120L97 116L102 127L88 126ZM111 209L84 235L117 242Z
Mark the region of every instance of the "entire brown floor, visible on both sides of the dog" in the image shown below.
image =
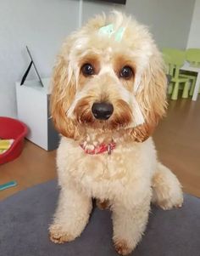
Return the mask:
M169 101L167 117L153 135L159 159L178 176L184 191L200 197L200 99ZM25 141L18 159L0 166L0 184L18 185L0 191L0 200L36 184L54 179L56 152Z

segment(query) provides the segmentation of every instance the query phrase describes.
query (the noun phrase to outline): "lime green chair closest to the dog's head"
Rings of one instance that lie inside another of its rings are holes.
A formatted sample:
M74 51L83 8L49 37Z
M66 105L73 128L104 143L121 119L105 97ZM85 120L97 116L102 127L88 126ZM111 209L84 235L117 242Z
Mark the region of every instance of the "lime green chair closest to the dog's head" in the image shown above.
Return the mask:
M178 99L179 89L182 88L182 98L188 98L190 79L182 77L180 68L186 60L185 51L175 48L163 48L164 62L167 65L166 73L171 76L168 94L171 94L171 100ZM183 84L183 87L181 87Z

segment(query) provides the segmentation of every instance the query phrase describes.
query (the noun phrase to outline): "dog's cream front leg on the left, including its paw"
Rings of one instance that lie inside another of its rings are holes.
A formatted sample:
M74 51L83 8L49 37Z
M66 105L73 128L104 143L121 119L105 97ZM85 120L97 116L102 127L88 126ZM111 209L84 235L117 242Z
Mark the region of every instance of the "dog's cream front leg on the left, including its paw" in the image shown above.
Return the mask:
M52 242L69 242L80 236L92 209L92 200L82 191L63 188L60 191L58 208L49 228Z

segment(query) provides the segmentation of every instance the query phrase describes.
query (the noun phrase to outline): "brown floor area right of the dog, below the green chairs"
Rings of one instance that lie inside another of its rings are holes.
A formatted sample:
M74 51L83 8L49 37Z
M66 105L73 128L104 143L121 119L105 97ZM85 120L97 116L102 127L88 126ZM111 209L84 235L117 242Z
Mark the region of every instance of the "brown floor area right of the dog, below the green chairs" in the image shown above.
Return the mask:
M170 100L153 138L159 159L177 175L183 190L200 197L200 97Z

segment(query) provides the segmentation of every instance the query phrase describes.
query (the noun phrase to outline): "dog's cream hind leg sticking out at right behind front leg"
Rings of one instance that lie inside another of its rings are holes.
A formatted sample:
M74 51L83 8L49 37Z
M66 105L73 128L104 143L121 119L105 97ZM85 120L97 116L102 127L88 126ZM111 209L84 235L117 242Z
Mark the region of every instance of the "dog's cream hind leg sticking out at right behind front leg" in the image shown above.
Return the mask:
M152 180L153 199L152 202L164 210L173 207L181 207L183 195L181 184L175 174L158 162L158 169Z

